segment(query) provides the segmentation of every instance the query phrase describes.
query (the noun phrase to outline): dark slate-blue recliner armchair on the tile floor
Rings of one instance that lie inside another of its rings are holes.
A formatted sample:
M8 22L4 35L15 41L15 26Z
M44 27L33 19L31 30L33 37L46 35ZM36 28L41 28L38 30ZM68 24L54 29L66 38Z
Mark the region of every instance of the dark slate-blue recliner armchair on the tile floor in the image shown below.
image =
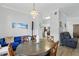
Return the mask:
M77 39L71 38L69 32L62 32L60 33L60 45L71 47L71 48L76 48Z

